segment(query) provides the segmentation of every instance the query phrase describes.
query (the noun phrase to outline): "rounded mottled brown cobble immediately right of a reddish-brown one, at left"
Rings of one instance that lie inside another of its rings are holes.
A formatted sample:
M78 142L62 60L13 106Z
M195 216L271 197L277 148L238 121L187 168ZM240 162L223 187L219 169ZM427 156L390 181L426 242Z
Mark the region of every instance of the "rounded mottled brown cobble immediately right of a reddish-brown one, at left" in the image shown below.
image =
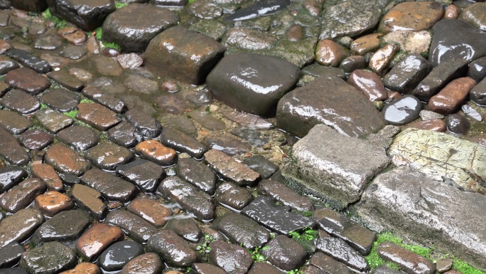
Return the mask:
M104 142L88 150L86 158L100 169L114 170L130 162L134 158L134 153L126 147Z

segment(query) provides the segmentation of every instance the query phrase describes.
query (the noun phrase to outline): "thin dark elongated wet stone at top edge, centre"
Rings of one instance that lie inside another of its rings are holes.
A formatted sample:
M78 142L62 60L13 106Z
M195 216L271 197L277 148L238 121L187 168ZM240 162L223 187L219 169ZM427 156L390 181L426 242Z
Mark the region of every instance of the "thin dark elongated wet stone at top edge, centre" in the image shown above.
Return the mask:
M247 19L254 19L259 16L274 14L276 11L281 11L290 6L289 0L269 0L258 2L247 6L246 8L237 10L234 14L225 17L225 21L241 21Z

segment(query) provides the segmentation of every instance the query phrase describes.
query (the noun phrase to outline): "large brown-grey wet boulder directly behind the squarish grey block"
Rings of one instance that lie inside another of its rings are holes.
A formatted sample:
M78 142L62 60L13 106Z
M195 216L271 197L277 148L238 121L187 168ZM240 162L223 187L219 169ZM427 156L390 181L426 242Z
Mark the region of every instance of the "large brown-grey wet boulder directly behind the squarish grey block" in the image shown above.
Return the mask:
M297 137L306 136L317 124L355 137L377 132L386 124L360 91L340 78L326 76L284 95L276 120L277 127Z

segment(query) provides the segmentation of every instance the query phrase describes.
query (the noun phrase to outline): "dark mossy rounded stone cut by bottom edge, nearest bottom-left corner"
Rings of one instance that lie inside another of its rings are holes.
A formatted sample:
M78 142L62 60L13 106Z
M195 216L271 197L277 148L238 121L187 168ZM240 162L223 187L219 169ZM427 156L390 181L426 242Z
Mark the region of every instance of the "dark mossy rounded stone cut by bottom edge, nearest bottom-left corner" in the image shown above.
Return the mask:
M58 273L77 263L75 251L59 242L44 243L22 254L21 267L29 273Z

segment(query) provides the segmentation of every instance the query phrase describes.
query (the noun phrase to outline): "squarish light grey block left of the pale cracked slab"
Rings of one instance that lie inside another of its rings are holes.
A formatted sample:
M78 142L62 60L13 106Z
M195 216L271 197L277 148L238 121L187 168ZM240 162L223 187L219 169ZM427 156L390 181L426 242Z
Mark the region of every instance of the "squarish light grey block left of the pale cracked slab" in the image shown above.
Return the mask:
M282 174L347 206L360 199L367 182L390 162L371 143L316 125L293 146Z

